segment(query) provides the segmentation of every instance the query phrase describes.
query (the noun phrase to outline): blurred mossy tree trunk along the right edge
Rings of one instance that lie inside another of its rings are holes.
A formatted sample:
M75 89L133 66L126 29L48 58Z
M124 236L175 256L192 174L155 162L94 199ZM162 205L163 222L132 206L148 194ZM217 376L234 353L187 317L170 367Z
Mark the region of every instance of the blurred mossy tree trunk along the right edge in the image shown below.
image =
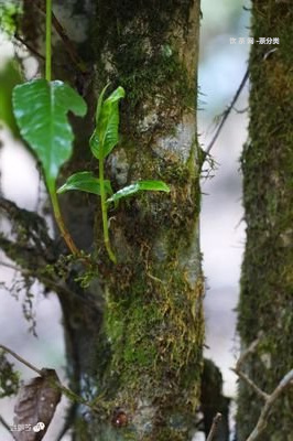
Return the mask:
M267 392L293 365L292 23L291 2L253 1L252 35L279 37L280 44L254 42L250 54L250 140L242 154L247 245L238 327L243 348L263 333L247 373ZM243 441L263 404L240 383L238 405L238 440ZM292 415L291 388L259 440L292 441Z

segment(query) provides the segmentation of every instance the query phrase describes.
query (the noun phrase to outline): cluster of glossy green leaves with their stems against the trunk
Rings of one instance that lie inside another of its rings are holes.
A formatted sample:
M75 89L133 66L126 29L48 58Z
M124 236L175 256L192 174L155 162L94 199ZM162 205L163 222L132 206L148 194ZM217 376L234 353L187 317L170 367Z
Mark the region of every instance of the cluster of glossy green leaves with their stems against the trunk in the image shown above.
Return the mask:
M117 202L142 191L169 192L162 181L139 181L112 194L111 183L104 179L104 161L118 143L119 100L124 97L124 89L118 87L104 99L108 86L100 94L96 110L96 128L89 140L93 154L99 161L99 178L84 171L70 175L57 193L78 190L100 196L104 239L110 259L116 257L110 248L108 233L107 203ZM13 111L24 140L40 160L47 190L53 204L56 222L70 251L80 254L68 234L59 211L56 196L56 179L61 166L72 155L73 131L67 120L72 110L78 116L86 114L84 99L68 85L55 80L36 79L18 85L12 95ZM110 196L106 201L106 196Z

